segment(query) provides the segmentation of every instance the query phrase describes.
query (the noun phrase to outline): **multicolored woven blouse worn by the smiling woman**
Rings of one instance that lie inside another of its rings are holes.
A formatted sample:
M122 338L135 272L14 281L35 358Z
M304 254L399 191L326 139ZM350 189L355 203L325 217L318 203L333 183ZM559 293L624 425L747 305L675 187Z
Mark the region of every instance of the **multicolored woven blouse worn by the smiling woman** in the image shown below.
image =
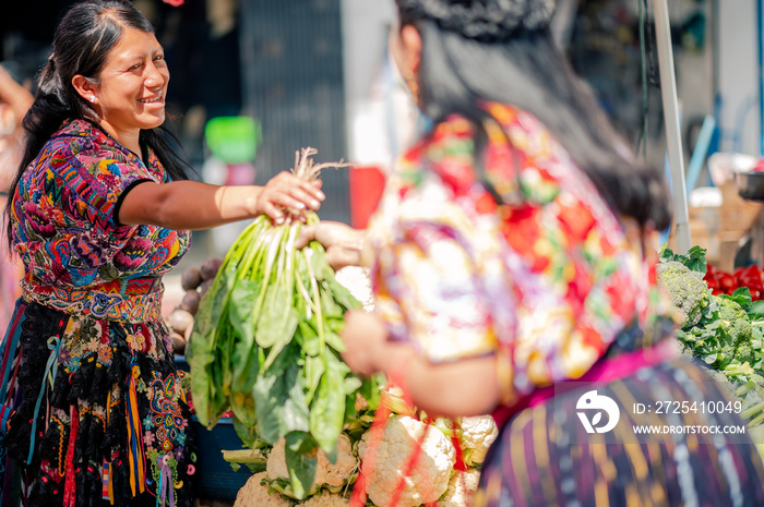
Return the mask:
M56 133L24 173L14 201L25 298L96 318L158 318L160 277L188 250L189 233L118 222L121 197L143 181L168 181L153 150L143 164L83 120Z

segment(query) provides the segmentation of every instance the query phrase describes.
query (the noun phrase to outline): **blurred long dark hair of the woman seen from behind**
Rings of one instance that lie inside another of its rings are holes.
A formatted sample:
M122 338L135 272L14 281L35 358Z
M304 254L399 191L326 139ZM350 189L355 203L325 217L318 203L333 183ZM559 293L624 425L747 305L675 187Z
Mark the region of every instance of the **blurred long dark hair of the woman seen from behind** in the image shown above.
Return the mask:
M550 1L396 2L401 26L414 25L421 35L419 104L428 117L459 113L480 132L486 113L479 101L514 105L549 129L613 210L642 226L669 225L662 172L634 160L554 45L544 22Z

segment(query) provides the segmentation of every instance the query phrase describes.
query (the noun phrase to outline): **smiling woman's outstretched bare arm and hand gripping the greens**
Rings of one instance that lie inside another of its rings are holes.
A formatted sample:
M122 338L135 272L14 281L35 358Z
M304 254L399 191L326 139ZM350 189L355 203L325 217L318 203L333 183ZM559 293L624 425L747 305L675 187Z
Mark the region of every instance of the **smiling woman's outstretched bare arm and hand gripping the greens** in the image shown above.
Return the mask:
M295 214L318 209L325 198L321 182L307 182L280 172L264 186L217 186L195 181L158 184L144 182L122 200L119 216L124 225L153 225L168 229L208 229L265 214L280 224L282 207Z

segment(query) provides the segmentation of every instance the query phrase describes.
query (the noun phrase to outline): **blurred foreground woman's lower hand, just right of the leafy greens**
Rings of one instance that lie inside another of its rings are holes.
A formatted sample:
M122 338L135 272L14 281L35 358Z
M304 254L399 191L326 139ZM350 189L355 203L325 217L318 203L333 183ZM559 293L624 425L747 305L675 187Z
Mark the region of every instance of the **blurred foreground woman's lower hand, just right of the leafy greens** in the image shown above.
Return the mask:
M345 341L342 357L350 370L367 376L381 370L377 360L384 354L387 328L380 317L362 310L348 311L342 338Z

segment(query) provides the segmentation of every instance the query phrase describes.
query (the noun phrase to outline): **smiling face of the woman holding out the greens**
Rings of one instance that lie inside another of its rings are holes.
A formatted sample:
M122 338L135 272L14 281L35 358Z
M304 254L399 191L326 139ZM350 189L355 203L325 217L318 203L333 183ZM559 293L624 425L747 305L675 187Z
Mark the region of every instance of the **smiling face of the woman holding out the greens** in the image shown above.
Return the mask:
M85 99L114 133L153 129L165 121L169 80L165 53L154 34L127 28L109 52L93 95Z

